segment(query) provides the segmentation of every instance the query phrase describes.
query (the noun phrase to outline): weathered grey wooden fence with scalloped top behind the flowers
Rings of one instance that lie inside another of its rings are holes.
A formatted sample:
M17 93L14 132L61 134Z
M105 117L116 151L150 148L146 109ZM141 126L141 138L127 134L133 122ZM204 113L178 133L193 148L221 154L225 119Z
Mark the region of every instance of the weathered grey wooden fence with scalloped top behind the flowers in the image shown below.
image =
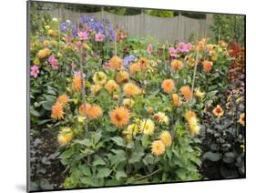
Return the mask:
M206 19L192 19L183 15L171 18L146 15L114 15L105 11L96 13L77 13L65 8L49 10L49 13L61 21L78 21L81 15L95 15L97 19L106 18L113 25L123 26L129 36L153 36L160 42L188 42L189 36L210 36L211 15Z

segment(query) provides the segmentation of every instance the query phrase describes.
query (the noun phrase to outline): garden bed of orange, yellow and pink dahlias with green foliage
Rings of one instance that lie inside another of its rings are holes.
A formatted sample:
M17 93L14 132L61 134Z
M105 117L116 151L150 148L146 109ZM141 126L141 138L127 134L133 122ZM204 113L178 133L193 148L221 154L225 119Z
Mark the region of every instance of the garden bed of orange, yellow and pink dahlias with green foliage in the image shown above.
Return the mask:
M32 188L244 177L243 55L46 19L30 39Z

